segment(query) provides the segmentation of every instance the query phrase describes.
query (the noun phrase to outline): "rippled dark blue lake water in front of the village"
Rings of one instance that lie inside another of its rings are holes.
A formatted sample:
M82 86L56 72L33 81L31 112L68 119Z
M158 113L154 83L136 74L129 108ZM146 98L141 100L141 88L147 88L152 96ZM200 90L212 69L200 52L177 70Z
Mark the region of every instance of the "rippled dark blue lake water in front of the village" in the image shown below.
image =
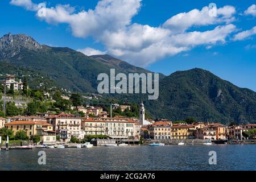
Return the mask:
M46 165L38 164L41 150ZM216 151L216 165L209 164L209 151ZM256 170L256 145L2 150L0 170Z

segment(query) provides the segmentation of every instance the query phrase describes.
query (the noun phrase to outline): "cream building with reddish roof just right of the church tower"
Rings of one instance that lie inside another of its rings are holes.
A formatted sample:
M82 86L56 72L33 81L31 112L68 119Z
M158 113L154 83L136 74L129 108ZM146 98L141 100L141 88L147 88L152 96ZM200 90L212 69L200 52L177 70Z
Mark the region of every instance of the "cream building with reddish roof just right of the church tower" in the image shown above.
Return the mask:
M158 121L149 126L150 138L155 140L171 139L171 125L169 122Z

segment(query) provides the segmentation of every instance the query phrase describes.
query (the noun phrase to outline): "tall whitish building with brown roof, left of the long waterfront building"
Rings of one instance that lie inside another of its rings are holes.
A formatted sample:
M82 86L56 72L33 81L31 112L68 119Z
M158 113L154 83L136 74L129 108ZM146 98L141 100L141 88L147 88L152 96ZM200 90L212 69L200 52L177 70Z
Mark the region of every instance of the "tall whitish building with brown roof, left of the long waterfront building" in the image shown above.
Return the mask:
M77 115L61 113L46 119L48 123L53 125L53 130L60 133L63 142L69 142L71 137L84 138L84 132L81 130L81 118Z

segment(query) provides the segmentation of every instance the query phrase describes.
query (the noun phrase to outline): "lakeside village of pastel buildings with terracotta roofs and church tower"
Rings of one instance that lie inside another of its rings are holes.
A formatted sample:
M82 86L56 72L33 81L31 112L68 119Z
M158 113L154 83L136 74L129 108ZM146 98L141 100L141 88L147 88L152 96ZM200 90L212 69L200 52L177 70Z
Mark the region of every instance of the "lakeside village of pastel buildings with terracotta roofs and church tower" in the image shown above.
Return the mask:
M11 84L16 90L23 89L21 81L7 76L6 87ZM69 96L61 96L70 100ZM11 136L19 139L20 147L28 143L56 146L74 143L90 143L101 146L118 144L227 144L254 142L256 124L226 126L213 122L177 122L168 119L146 119L143 101L139 103L139 118L112 116L113 109L131 110L130 105L110 104L110 113L100 106L71 106L71 110L81 114L36 113L0 118L2 147ZM23 136L25 135L25 136ZM23 137L22 137L23 136ZM37 137L37 140L33 138ZM8 139L7 139L8 138ZM22 143L22 140L30 142ZM77 146L77 145L75 145ZM81 144L79 145L81 146ZM23 146L24 147L24 146Z

